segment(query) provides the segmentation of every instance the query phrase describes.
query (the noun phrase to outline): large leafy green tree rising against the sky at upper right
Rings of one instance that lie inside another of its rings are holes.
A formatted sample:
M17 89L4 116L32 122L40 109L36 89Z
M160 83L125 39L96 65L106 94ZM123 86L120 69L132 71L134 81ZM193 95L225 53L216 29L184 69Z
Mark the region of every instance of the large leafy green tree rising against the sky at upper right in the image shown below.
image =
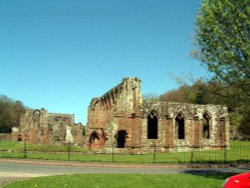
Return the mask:
M250 0L203 0L193 56L224 86L226 97L250 104ZM215 88L214 92L218 92Z

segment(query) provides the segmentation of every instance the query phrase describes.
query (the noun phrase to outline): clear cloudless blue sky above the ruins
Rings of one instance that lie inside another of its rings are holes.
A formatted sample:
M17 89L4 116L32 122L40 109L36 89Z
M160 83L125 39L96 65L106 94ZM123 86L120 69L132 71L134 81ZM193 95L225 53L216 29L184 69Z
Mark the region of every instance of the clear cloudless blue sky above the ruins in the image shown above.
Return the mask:
M206 74L189 57L201 0L0 0L0 94L74 113L124 77L163 94L171 75Z

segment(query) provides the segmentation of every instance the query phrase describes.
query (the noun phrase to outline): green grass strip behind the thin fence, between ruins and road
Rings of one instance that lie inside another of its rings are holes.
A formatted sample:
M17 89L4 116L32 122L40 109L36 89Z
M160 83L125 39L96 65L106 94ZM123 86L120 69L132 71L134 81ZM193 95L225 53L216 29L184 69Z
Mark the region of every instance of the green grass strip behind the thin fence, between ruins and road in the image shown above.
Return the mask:
M183 152L159 152L152 148L150 154L119 154L122 149L112 148L110 154L96 153L74 146L35 145L0 140L0 158L28 158L68 160L82 162L124 163L242 163L250 162L250 142L232 143L230 149L200 151L196 148ZM176 149L181 151L182 148ZM119 152L118 152L119 151Z

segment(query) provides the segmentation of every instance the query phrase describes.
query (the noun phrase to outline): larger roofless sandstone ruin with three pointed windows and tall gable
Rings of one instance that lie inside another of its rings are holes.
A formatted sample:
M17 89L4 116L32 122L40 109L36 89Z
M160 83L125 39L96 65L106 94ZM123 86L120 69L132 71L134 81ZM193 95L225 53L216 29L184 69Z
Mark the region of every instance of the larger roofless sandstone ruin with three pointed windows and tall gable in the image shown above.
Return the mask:
M102 152L150 152L229 147L227 107L143 99L141 80L124 78L88 108L85 144Z

